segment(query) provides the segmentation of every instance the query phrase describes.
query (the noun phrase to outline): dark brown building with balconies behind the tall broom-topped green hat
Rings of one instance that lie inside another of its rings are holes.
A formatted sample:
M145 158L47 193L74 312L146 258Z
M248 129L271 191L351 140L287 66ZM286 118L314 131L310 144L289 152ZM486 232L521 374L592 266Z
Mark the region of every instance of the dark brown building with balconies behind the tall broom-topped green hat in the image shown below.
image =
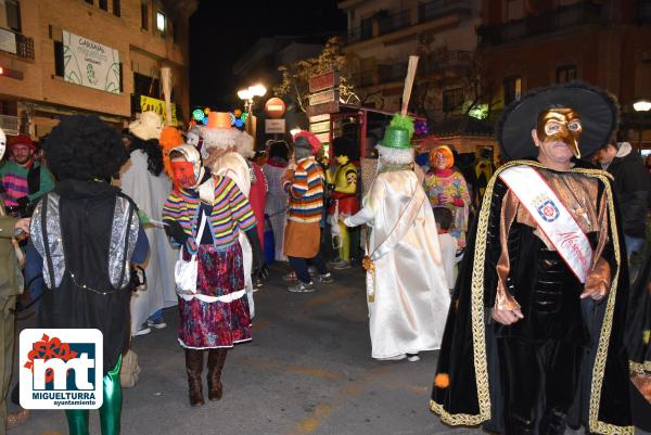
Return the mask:
M362 105L397 111L409 55L419 54L410 111L431 120L465 113L475 73L478 0L344 0L344 51Z

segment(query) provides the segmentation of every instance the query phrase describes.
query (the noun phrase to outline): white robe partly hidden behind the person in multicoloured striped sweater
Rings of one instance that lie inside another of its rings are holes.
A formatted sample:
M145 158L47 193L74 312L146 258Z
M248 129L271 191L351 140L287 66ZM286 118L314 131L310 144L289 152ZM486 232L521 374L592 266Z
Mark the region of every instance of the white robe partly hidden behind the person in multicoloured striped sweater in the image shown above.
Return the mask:
M222 177L228 177L238 184L244 196L248 199L251 193L251 171L248 165L241 154L229 152L217 158L210 168L213 174ZM240 246L242 247L242 263L244 264L244 285L246 289L246 297L248 298L248 310L251 318L255 316L255 305L253 302L253 281L251 280L251 271L253 269L253 250L251 243L246 239L246 234L240 231Z

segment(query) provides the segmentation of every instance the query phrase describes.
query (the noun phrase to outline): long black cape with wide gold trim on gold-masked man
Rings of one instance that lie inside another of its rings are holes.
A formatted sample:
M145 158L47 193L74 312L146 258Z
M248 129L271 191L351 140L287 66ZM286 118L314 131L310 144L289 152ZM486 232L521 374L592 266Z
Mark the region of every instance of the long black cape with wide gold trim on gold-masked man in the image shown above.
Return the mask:
M446 424L484 424L489 431L503 432L499 361L489 321L497 286L495 265L500 254L501 202L507 192L498 177L503 169L522 164L542 167L536 161L523 159L498 169L486 188L481 210L469 233L430 402L432 411ZM610 252L611 258L607 260L611 264L613 285L602 303L591 299L582 303L590 305L584 311L593 315L584 320L593 333L588 357L582 364L580 387L569 423L573 427L583 424L591 433L633 434L628 357L624 347L628 272L624 246L620 244L624 238L615 223L617 210L612 181L607 172L580 161L576 161L571 171L597 179L599 197L608 201L609 242L603 255Z

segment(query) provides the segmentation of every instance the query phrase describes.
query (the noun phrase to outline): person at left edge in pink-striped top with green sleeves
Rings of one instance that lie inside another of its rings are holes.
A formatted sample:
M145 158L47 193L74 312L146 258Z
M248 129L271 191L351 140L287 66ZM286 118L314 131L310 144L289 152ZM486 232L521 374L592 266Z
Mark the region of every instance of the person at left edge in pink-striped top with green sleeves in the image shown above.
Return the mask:
M28 216L30 207L54 188L52 172L35 162L36 145L28 135L18 135L9 144L11 159L0 167L0 193L7 213Z

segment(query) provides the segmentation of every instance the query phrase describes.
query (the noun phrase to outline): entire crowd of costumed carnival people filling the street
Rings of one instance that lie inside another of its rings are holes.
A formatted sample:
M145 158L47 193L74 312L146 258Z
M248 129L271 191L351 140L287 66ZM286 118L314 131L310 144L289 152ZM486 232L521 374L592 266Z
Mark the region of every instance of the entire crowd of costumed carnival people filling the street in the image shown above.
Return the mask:
M370 170L346 136L327 152L301 131L256 154L219 112L188 131L145 112L122 135L65 117L42 150L20 135L0 166L0 417L27 418L5 402L25 305L40 327L102 331L103 435L119 433L132 337L166 328L171 306L190 405L205 402L204 354L221 399L228 350L252 340L255 292L280 261L292 293L362 267L372 358L441 349L430 405L447 424L648 430L651 157L612 141L617 116L585 84L534 90L497 127L506 163L481 152L471 181L452 146L417 162L399 114ZM66 415L88 433L88 411Z

